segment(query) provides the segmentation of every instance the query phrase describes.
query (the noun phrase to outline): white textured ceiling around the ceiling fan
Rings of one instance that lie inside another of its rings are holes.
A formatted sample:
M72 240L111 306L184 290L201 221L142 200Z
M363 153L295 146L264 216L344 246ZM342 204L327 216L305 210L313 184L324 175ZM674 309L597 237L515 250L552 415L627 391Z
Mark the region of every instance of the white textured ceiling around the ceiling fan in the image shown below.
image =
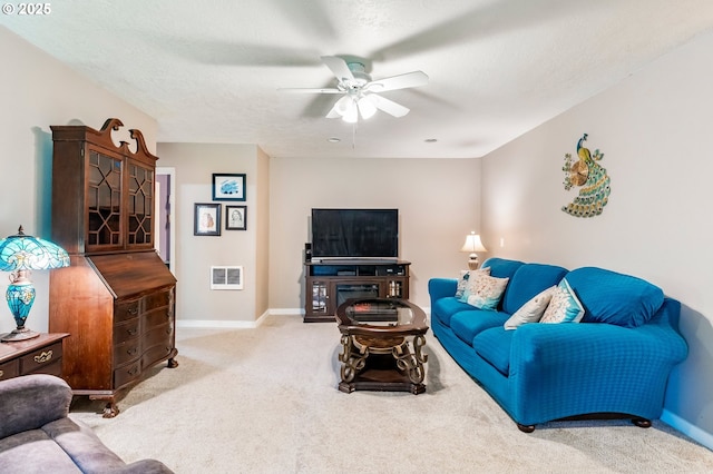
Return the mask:
M159 141L257 144L274 157L480 157L713 28L711 0L50 6L0 23L156 118ZM361 58L373 79L430 81L383 93L406 117L353 127L324 118L338 96L277 90L334 87L324 55Z

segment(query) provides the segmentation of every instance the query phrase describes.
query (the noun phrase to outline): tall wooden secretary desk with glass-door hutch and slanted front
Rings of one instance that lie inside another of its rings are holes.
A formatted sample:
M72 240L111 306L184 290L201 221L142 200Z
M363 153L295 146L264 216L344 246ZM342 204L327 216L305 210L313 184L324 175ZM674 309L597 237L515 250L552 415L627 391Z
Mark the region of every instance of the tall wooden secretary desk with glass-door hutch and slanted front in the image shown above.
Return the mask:
M176 279L154 249L158 159L130 130L136 151L111 130L52 126L52 239L71 265L50 274L49 330L69 333L62 377L76 395L106 401L152 366L174 359Z

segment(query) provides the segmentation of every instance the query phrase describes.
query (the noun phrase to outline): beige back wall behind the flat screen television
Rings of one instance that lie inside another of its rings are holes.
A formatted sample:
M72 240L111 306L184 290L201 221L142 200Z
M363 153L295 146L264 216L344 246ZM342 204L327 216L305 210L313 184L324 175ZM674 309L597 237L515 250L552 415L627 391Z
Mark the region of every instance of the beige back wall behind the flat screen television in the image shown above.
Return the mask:
M304 309L303 250L313 207L398 208L400 257L411 298L429 307L428 279L466 267L466 235L479 230L477 159L271 160L270 307Z

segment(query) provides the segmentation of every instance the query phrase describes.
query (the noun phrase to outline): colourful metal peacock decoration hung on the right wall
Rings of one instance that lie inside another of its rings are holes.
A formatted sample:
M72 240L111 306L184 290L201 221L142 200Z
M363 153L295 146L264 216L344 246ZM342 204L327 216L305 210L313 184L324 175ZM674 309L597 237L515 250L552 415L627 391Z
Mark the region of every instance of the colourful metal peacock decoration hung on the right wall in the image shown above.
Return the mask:
M584 134L577 141L577 160L572 158L572 154L565 155L565 189L579 187L579 195L574 198L561 210L575 217L594 217L602 214L604 206L609 200L611 180L606 174L606 168L599 165L604 154L598 149L594 154L584 147L587 134Z

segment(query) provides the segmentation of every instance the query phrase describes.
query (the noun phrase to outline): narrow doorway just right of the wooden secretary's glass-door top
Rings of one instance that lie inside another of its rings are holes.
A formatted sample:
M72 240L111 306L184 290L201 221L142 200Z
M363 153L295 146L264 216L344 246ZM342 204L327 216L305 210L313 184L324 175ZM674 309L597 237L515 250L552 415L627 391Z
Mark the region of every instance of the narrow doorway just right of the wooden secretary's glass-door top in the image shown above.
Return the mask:
M176 275L176 226L174 225L176 195L176 169L156 167L156 199L154 201L154 247L172 274Z

